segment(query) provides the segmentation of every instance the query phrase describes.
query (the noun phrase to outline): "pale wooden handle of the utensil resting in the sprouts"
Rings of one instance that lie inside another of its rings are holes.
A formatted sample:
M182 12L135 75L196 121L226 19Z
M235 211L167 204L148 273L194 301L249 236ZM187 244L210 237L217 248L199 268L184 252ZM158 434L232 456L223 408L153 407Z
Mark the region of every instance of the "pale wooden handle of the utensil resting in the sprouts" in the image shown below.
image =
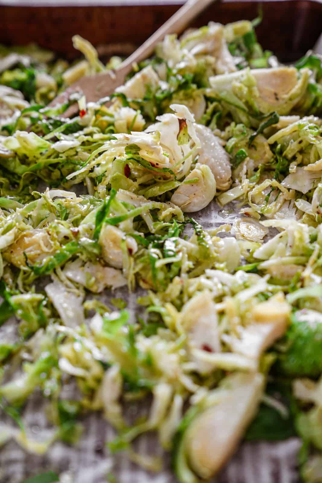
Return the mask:
M167 20L154 34L146 40L133 54L126 58L120 66L120 70L126 73L132 69L133 62L141 62L154 52L155 46L164 37L171 33L180 33L186 28L191 20L200 14L214 0L188 0L186 3Z

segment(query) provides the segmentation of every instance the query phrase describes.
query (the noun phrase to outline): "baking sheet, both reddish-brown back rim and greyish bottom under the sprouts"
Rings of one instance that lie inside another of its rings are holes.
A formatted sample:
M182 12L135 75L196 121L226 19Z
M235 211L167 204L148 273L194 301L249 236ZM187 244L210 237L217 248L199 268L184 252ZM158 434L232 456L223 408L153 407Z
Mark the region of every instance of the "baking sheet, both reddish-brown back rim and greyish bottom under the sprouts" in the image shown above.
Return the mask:
M127 5L130 3L126 0L121 1ZM64 6L60 6L62 3ZM71 3L82 4L84 7L78 9L71 6L65 7ZM103 3L106 7L93 7ZM110 6L118 4L117 0L110 2L95 0L90 7L88 0L66 0L60 1L59 4L55 2L57 6L53 9L48 6L49 3L46 0L0 0L1 27L3 27L0 29L0 42L27 44L37 41L43 47L52 48L70 56L75 55L70 38L76 32L81 32L94 44L109 43L110 37L114 42L116 39L118 42L126 40L126 42L138 43L150 35L159 23L166 20L164 16L173 13L171 5L182 2L138 0L131 3L136 5L141 3L142 6L138 8L124 6L114 9ZM318 5L315 1L307 0L279 1L274 5L272 3L264 2L265 21L258 28L259 40L265 47L273 47L280 58L294 60L315 43L321 32L321 3ZM21 7L22 4L28 6ZM40 4L44 6L34 8ZM150 4L154 7L152 8ZM167 6L161 7L160 4L167 4ZM234 1L229 8L223 3L216 3L199 18L198 23L203 25L208 20L227 23L240 18L252 19L256 16L257 6L258 2L255 1L247 3ZM138 15L140 15L142 39L138 37L137 29L128 26L129 20L137 23ZM126 21L122 22L122 18ZM27 30L26 24L28 24ZM223 223L232 223L236 214L229 209L218 211L218 205L213 202L202 212L194 214L194 218L207 229ZM111 295L105 297L108 299ZM135 311L138 310L137 294L128 297L125 289L119 289L112 294L112 297L127 297L128 310L134 319ZM73 397L73 387L69 390L70 394L66 395L66 398ZM142 407L141 403L139 405L141 412L148 410L148 406ZM137 416L139 405L128 406L127 415L131 418ZM43 409L43 398L36 395L30 399L23 413L25 426L33 438L37 438L47 427ZM9 418L5 420L2 415L0 421L12 423ZM7 443L0 450L0 483L21 483L29 476L49 470L62 475L61 483L106 483L106 475L110 472L115 475L117 483L176 482L170 470L169 455L162 452L155 435L140 437L134 443L134 449L140 454L158 455L163 458L164 469L157 474L134 465L124 453L109 455L105 443L111 441L115 433L103 420L101 414L89 415L83 422L85 431L78 445L71 447L56 442L44 456L29 455L14 441ZM299 447L300 441L295 438L278 443L243 443L214 481L217 483L298 482L296 455Z

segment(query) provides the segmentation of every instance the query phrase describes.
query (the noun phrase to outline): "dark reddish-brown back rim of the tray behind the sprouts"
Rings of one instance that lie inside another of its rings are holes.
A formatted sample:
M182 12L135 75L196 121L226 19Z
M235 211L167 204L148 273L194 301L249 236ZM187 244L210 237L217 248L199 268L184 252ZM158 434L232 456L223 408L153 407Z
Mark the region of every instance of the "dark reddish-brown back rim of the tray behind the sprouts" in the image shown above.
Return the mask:
M194 26L210 20L229 23L257 16L256 1L214 2ZM25 7L0 5L0 43L35 42L65 57L75 57L71 36L78 33L94 45L140 45L180 5ZM282 60L294 60L311 48L322 28L322 3L310 0L264 1L259 42ZM120 53L120 52L118 52Z

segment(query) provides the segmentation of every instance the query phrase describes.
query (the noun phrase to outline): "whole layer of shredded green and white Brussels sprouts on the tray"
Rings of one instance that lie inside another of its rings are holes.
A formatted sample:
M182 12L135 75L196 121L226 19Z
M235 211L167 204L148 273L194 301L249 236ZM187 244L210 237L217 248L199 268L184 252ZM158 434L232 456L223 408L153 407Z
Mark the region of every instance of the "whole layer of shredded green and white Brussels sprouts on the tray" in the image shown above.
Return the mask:
M283 66L255 24L169 35L110 99L55 108L121 59L80 36L71 66L1 46L1 445L73 444L100 412L111 452L158 469L131 446L156 431L196 483L244 436L269 439L280 411L304 480L321 481L322 65ZM212 209L233 223L203 226ZM52 431L38 441L24 421L40 394ZM124 402L148 396L130 424Z

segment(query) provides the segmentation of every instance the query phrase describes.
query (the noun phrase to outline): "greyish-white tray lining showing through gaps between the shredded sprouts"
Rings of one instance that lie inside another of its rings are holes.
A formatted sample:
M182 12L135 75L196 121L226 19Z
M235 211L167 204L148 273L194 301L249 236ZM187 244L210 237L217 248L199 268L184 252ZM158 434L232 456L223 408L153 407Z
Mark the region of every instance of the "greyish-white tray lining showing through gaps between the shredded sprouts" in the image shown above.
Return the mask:
M193 217L204 228L218 227L232 223L238 214L231 208L219 209L213 201L207 208ZM137 293L128 294L127 289L106 293L104 301L111 297L122 297L128 301L128 311L134 319L142 310L136 304ZM65 390L64 398L72 398L74 388ZM33 396L28 402L23 419L30 436L43 436L47 427L43 415L44 403L41 396ZM142 402L128 405L126 414L135 419L148 410ZM3 418L1 418L3 420ZM6 420L6 422L10 420ZM54 443L44 456L27 454L14 441L0 450L0 483L21 483L25 478L44 471L64 473L68 471L71 480L66 483L106 483L107 474L112 473L117 483L175 483L177 480L170 469L170 458L161 450L154 435L144 435L134 444L140 454L158 455L163 458L164 469L155 474L131 463L125 453L110 455L106 442L115 433L101 414L92 414L84 420L85 431L77 446ZM50 431L50 429L49 429ZM48 433L49 434L49 433ZM295 483L299 481L296 470L296 454L300 441L292 438L278 443L243 443L236 455L214 479L217 483ZM65 477L67 475L65 474ZM61 483L65 483L64 474Z

